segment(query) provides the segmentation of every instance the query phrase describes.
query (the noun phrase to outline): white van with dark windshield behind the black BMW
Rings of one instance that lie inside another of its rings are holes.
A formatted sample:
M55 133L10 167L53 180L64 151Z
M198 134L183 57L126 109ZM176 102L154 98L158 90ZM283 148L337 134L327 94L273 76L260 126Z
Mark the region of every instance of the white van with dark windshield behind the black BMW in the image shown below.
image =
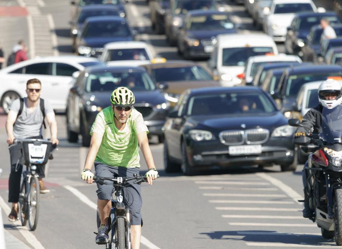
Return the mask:
M265 34L220 34L208 66L223 86L242 82L245 63L251 56L274 54L278 49L272 37Z

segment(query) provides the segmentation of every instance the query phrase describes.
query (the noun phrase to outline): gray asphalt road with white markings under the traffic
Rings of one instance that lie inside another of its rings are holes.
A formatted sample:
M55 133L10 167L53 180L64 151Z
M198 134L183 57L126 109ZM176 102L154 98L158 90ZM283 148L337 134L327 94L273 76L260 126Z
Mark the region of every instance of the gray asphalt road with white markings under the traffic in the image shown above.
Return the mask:
M241 32L255 32L242 5L229 1L220 3L228 6L234 20L243 24ZM49 23L50 27L51 23L55 27L55 33L51 37L50 53L70 54L68 1L30 1L30 4L34 4L41 15L51 14L53 22ZM152 33L144 0L130 1L126 7L129 22L140 33L141 40L154 45L156 52L167 59L181 59L176 48L165 43L165 36ZM15 30L8 32L15 33ZM278 44L278 48L280 52L284 51L282 44ZM35 50L39 50L38 45ZM206 64L205 61L199 63ZM7 248L104 248L94 242L96 186L80 180L87 148L67 142L63 115L57 116L59 150L49 163L45 179L51 192L41 195L36 231L28 232L8 221L9 153L5 142L5 118L0 115L0 157L3 162L0 206ZM302 206L297 200L302 196L302 165L296 172L280 172L279 166L259 169L241 165L239 169L186 177L165 173L162 145L152 140L150 146L161 177L153 186L142 185L142 249L320 248L334 245L333 240L320 236L320 229L314 223L301 217ZM141 166L144 173L147 167L143 159Z

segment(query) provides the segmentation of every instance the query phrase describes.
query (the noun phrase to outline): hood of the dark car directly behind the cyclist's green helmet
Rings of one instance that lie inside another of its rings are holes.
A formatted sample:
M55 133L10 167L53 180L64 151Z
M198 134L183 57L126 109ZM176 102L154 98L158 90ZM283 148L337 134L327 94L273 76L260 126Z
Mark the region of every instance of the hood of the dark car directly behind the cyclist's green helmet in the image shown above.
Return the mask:
M166 103L167 100L164 97L164 94L159 90L154 91L133 91L135 97L135 104L151 104L158 105L162 103ZM91 92L84 94L83 100L85 102L90 101L91 105L101 106L105 108L110 105L110 94L111 92ZM94 100L91 101L90 97L95 96Z

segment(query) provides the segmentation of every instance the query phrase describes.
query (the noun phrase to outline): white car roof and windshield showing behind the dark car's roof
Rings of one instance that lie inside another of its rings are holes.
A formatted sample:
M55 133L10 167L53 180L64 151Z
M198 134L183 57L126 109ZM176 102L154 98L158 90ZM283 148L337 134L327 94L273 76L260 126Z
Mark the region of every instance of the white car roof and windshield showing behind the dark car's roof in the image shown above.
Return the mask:
M104 46L100 60L110 66L140 66L153 60L153 52L146 42L111 42Z

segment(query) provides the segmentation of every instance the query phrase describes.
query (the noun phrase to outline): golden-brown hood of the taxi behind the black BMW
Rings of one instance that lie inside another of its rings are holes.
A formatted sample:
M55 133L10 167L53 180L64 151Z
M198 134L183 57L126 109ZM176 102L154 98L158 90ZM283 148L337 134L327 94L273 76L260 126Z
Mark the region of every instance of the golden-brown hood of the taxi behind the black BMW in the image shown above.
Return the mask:
M163 82L168 84L167 93L181 94L186 89L201 88L201 87L221 87L220 82L214 80L201 81L201 80L189 80L189 81L169 81Z

